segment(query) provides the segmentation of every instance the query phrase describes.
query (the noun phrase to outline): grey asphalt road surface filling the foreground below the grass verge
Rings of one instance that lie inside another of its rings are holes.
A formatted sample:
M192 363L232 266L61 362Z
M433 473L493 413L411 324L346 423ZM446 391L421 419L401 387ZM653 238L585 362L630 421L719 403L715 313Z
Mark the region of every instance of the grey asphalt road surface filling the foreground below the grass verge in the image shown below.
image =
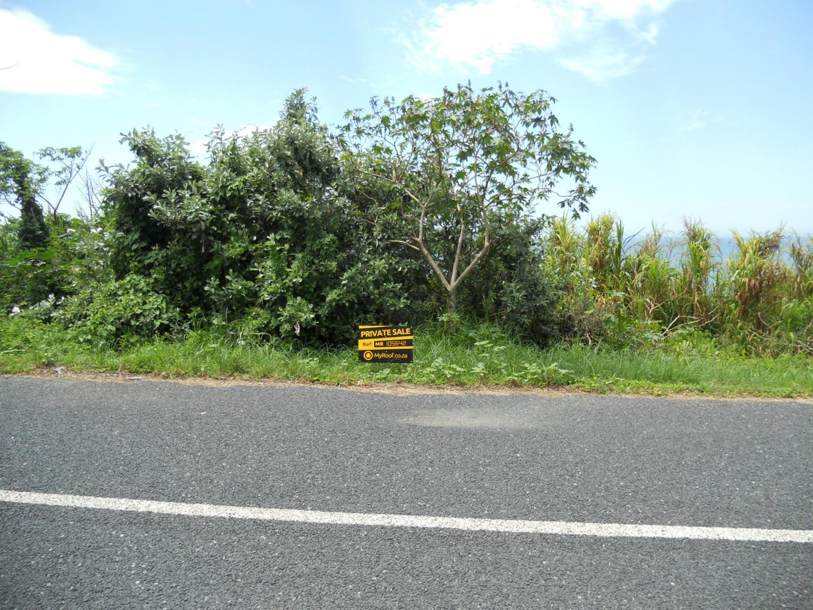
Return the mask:
M0 378L0 490L813 530L813 405ZM0 503L2 608L813 608L813 544Z

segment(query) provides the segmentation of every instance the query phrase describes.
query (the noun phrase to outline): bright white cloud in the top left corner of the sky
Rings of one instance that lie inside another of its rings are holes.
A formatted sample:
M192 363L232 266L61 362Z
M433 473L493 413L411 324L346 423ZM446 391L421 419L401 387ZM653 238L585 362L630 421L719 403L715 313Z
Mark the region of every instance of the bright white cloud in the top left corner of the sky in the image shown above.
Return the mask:
M103 95L115 57L76 36L51 31L24 9L0 9L0 91Z

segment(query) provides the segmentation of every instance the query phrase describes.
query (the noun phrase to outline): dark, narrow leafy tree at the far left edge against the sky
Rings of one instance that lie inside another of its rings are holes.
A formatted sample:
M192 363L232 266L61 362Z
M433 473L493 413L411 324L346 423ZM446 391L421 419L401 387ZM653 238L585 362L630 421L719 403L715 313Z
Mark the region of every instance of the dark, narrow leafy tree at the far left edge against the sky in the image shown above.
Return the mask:
M19 150L0 142L0 194L20 207L20 243L27 250L48 244L48 228L37 203L36 170Z

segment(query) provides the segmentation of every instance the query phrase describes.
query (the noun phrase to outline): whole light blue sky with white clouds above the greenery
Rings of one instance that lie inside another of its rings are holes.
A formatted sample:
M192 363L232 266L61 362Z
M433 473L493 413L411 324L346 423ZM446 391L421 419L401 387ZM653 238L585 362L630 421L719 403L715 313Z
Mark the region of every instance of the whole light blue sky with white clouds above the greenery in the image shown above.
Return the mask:
M0 140L128 163L120 134L150 125L205 160L299 87L340 124L502 81L558 100L598 161L591 214L813 233L811 24L810 0L0 2Z

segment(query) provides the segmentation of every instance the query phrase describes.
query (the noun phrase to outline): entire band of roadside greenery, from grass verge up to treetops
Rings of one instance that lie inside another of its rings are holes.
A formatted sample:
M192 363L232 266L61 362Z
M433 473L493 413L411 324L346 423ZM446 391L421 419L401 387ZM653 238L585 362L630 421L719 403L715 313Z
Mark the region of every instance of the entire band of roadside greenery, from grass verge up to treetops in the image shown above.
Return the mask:
M594 160L553 102L466 85L331 133L298 90L206 163L133 130L98 193L82 149L0 144L0 370L811 395L813 241L580 224ZM571 216L532 213L559 181ZM369 323L419 327L415 364L357 363Z

